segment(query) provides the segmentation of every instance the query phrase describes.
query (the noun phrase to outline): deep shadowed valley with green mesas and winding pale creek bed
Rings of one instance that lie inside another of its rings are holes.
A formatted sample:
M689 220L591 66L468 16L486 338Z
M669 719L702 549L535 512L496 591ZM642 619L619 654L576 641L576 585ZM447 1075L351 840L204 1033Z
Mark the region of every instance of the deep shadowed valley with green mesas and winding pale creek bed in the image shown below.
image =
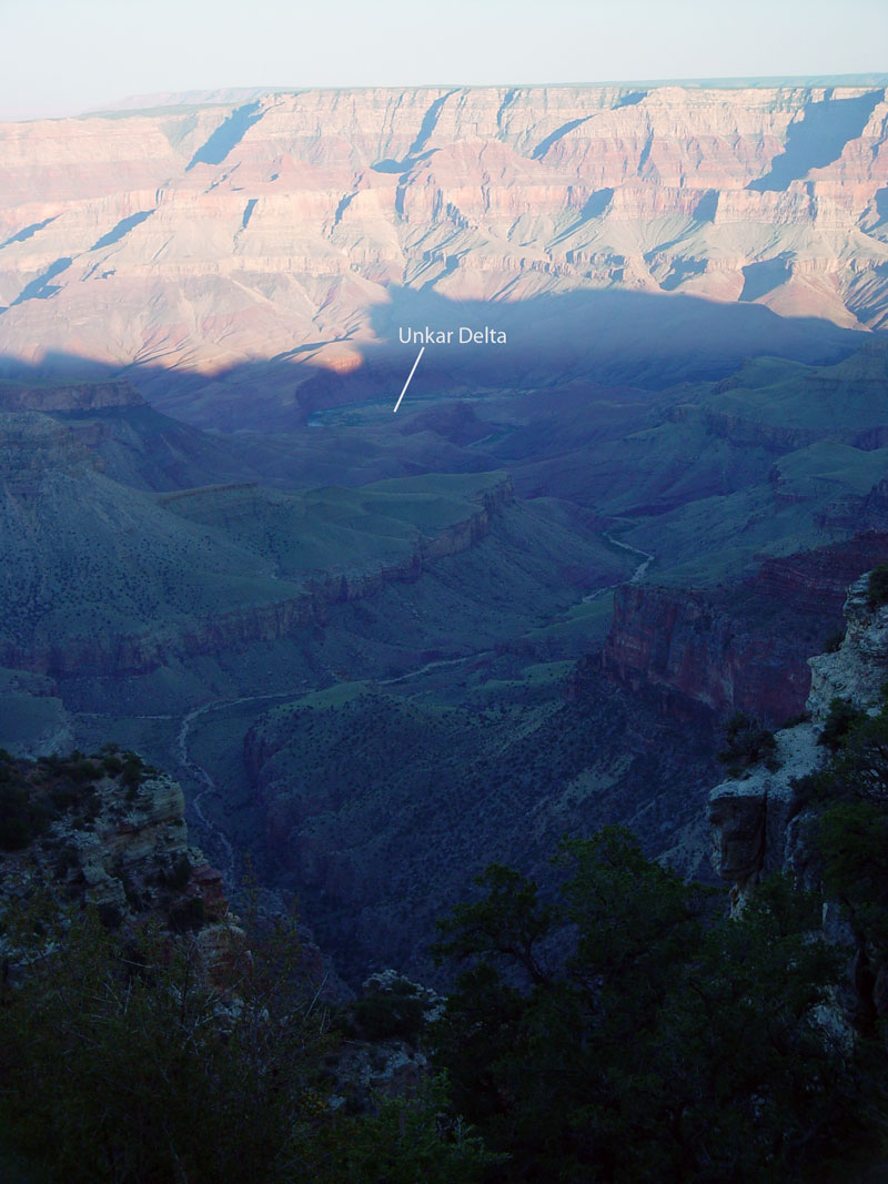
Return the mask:
M797 715L888 559L884 388L870 339L232 436L129 381L7 380L7 745L173 771L217 862L250 852L354 983L435 979L471 876L545 879L565 834L626 823L706 877L721 725Z

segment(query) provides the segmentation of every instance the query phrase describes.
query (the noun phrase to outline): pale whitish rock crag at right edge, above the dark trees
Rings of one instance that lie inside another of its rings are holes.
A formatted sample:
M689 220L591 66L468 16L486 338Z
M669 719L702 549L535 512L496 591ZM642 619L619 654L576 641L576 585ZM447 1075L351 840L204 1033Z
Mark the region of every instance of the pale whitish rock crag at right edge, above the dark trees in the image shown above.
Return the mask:
M828 755L817 744L835 697L861 709L873 708L888 678L888 606L868 603L869 577L856 580L848 592L844 616L848 630L838 650L810 659L810 721L777 733L776 762L771 772L758 767L716 785L709 794L713 866L733 884L736 902L754 888L761 875L792 870L813 887L810 835L816 816L802 809L796 778L815 772Z

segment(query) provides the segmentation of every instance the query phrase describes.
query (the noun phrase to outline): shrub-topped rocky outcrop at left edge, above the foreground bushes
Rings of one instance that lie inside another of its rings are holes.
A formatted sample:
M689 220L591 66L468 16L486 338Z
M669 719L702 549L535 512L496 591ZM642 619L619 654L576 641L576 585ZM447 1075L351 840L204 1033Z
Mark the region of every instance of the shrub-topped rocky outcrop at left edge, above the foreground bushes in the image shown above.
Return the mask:
M156 921L193 932L207 971L223 964L229 901L221 873L188 842L178 781L110 748L90 759L4 759L0 773L7 793L0 912L43 890L94 905L111 928L134 932ZM19 816L15 830L8 819ZM14 963L8 944L4 954Z

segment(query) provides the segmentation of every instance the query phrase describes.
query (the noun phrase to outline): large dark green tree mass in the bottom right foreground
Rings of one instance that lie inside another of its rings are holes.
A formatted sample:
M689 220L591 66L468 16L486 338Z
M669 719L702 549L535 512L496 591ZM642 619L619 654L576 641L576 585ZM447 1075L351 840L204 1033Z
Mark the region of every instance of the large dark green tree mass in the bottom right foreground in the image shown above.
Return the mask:
M438 946L470 964L437 1055L511 1157L491 1179L830 1180L879 1144L862 1073L817 1023L838 960L810 937L816 902L776 881L714 920L617 829L560 862L548 905L488 873Z

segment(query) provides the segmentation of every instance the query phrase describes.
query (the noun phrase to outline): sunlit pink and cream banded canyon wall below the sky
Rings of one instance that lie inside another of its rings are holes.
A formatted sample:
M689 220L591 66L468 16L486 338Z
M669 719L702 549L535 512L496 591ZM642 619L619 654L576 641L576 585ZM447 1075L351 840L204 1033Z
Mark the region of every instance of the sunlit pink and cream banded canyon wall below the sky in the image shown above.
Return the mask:
M195 374L298 350L343 374L397 340L392 287L883 328L887 128L873 85L324 90L6 124L4 353Z

